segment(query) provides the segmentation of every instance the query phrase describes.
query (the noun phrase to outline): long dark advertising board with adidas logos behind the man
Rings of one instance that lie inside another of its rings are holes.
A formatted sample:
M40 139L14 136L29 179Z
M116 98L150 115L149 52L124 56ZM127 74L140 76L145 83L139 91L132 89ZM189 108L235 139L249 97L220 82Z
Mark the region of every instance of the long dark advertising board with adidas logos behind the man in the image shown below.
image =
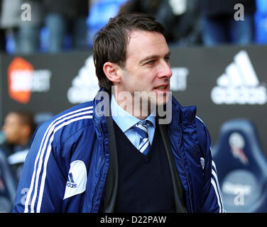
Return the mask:
M197 116L209 128L212 143L217 142L222 123L249 118L256 124L267 153L267 46L170 46L170 52L170 90L182 106L197 106ZM0 55L0 70L1 125L13 109L33 111L36 121L42 123L93 99L98 91L91 50ZM72 177L76 183L73 173Z

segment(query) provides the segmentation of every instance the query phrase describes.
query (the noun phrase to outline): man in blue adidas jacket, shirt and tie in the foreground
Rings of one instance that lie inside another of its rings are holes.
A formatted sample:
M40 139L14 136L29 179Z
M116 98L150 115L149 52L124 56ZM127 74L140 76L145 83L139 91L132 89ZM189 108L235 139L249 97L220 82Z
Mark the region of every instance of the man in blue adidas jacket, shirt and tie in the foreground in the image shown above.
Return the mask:
M14 212L223 212L209 133L170 95L164 28L142 13L94 38L93 101L34 135Z

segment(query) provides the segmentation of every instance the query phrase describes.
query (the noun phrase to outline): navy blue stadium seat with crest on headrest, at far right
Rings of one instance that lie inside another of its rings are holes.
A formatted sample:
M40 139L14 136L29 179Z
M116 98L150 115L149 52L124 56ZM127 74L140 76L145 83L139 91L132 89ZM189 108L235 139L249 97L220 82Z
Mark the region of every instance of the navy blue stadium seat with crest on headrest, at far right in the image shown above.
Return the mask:
M254 123L246 119L225 122L212 149L224 200L224 210L267 212L267 160Z

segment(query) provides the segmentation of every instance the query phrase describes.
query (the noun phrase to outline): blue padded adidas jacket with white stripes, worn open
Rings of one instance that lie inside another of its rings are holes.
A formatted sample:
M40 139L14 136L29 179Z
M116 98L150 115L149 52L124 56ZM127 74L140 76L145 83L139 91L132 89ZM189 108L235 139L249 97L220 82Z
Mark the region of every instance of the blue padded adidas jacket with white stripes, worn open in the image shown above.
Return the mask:
M34 134L13 212L99 212L109 168L106 108L94 99L43 123ZM189 212L224 212L207 128L196 107L173 97L170 148Z

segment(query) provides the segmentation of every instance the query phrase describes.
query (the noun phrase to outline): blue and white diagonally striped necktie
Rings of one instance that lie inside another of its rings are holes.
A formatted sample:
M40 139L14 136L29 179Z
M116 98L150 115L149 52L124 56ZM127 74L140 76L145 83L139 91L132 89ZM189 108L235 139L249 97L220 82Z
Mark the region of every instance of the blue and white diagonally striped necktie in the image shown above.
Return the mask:
M137 149L144 155L147 155L151 148L151 144L149 143L148 140L148 125L150 123L151 123L150 121L139 121L133 126L135 131L140 136Z

